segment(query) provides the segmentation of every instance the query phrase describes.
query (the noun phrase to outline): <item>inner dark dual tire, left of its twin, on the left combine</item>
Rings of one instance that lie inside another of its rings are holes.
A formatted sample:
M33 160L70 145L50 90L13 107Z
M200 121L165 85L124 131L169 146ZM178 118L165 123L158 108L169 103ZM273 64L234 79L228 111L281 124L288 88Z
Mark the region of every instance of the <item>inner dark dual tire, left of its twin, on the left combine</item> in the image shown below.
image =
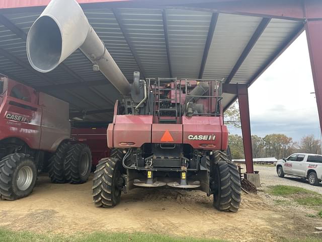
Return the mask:
M70 143L61 143L54 155L49 159L48 173L52 183L66 183L64 174L64 160L69 147Z

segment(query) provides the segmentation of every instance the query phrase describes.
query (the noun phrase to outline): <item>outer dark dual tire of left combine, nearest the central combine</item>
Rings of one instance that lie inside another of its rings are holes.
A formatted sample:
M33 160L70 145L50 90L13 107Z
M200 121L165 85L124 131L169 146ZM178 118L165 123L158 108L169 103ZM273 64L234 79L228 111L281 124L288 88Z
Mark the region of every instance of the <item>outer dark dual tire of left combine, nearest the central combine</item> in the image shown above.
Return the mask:
M70 146L64 162L65 179L71 184L83 184L89 179L92 154L85 144Z

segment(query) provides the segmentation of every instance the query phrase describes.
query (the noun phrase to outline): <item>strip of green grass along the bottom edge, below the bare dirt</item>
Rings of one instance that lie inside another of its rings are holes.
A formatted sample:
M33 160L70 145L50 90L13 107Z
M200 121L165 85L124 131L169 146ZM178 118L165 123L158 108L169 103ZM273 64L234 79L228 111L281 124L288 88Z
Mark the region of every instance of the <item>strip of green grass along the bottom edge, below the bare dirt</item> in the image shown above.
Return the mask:
M1 242L224 242L217 239L198 239L191 237L171 237L146 233L79 233L72 235L38 234L32 232L14 232L0 228Z

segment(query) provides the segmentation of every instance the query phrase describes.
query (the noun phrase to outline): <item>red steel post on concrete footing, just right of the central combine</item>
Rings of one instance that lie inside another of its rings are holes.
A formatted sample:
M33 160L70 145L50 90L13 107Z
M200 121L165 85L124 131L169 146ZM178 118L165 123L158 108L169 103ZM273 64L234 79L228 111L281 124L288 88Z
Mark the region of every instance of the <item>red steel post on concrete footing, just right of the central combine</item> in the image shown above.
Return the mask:
M243 134L246 173L254 173L250 108L247 85L237 85L241 133Z

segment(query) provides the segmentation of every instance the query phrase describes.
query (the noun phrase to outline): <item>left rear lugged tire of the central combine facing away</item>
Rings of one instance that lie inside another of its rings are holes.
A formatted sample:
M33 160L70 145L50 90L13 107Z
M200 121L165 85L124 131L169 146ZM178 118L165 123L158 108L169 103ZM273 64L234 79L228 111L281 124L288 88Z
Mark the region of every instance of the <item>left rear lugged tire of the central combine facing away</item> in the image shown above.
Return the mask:
M113 208L120 202L124 180L118 158L103 158L96 167L93 179L93 202L96 207Z

